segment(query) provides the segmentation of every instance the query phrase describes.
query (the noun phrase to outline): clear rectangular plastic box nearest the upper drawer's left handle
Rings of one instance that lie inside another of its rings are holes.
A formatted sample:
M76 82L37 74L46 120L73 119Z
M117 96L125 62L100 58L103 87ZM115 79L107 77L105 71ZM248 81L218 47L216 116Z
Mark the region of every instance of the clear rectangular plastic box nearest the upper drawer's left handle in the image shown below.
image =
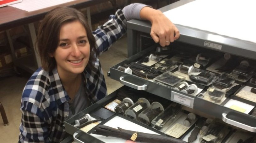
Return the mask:
M174 74L172 72L165 72L153 79L154 82L165 86L175 87L178 83L185 81L186 77Z

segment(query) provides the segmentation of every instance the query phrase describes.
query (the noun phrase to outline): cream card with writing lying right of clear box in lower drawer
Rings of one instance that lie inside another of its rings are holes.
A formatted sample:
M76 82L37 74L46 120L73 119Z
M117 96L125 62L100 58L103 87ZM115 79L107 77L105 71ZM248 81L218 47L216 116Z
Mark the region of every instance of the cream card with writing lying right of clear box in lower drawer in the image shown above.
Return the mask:
M170 129L168 129L165 133L169 136L179 138L182 136L186 131L188 131L189 127L183 126L179 123L176 123Z

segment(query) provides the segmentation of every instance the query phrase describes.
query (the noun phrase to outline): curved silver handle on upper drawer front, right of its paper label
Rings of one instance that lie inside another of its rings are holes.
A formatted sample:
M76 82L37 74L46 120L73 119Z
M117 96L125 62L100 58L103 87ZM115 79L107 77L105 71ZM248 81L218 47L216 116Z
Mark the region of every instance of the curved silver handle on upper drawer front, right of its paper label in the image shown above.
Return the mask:
M230 125L242 128L242 129L247 130L247 131L256 132L256 127L243 124L243 123L241 123L239 121L232 120L232 119L228 118L229 116L231 116L234 119L235 119L236 116L237 117L245 117L245 115L242 115L242 113L239 113L239 114L238 113L232 113L232 112L231 113L227 113L227 114L226 113L222 113L222 121L224 121L225 123L228 123ZM246 118L243 118L243 120L246 121ZM251 121L248 121L248 122L251 122Z

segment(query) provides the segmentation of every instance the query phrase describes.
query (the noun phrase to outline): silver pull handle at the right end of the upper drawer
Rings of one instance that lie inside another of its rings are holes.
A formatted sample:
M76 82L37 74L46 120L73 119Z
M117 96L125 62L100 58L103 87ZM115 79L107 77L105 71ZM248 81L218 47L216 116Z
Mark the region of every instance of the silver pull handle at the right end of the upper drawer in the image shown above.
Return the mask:
M256 132L256 127L255 127L256 124L255 124L254 117L244 113L237 113L237 112L222 113L222 121L247 131Z

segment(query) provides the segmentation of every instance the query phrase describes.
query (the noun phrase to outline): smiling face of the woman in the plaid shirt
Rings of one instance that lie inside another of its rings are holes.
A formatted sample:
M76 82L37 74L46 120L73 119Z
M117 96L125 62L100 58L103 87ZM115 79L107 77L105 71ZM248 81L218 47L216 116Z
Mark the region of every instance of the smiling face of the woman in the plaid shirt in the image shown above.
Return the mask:
M50 54L57 63L60 75L82 73L90 57L90 44L86 30L79 21L64 23L56 51Z

